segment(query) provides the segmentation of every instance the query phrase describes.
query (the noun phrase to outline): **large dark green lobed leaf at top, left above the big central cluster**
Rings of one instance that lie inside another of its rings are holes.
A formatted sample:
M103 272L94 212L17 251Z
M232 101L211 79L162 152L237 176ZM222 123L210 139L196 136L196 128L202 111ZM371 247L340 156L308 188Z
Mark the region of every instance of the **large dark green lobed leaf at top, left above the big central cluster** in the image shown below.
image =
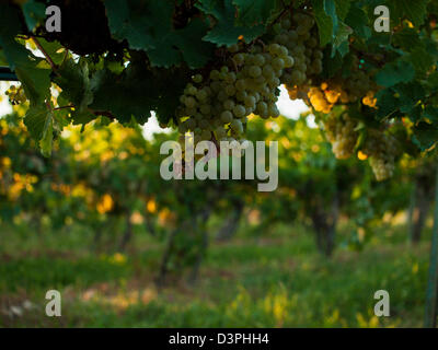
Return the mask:
M114 38L126 39L130 48L147 51L153 67L169 68L186 61L195 69L212 56L214 46L201 42L207 23L198 18L175 30L171 0L105 0L105 7Z

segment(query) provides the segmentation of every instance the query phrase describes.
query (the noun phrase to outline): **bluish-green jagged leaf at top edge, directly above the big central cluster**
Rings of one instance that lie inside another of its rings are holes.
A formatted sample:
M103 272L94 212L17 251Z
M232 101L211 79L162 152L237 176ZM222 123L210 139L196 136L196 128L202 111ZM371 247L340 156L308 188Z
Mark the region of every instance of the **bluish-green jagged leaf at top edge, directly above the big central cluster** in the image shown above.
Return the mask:
M265 33L264 25L254 25L252 27L235 25L235 8L232 0L203 0L196 3L196 7L204 13L212 15L216 19L216 25L204 36L204 40L216 45L231 46L238 42L239 36L250 43Z

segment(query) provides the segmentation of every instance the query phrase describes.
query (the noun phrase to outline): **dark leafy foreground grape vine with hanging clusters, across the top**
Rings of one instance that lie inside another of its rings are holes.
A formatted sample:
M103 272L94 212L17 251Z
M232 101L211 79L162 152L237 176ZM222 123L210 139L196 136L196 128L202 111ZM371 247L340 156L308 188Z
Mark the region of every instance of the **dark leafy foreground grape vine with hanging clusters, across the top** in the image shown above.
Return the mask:
M151 112L195 143L242 140L252 115L279 115L286 85L321 114L337 158L360 151L384 179L399 154L438 140L437 9L420 1L388 0L391 33L377 33L367 1L57 0L64 31L47 33L49 1L10 0L0 60L21 82L9 98L28 101L24 124L46 155L69 124L143 125ZM405 119L404 139L384 137Z

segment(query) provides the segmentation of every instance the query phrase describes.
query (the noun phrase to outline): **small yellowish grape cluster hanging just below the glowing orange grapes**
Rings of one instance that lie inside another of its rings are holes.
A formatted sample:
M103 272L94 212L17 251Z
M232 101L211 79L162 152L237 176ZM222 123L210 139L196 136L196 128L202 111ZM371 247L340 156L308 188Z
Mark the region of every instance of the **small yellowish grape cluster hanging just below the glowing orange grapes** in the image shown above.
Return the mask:
M338 160L349 159L354 152L358 140L356 131L357 121L347 114L336 117L330 115L324 121L324 130L328 141L332 143L333 153Z

